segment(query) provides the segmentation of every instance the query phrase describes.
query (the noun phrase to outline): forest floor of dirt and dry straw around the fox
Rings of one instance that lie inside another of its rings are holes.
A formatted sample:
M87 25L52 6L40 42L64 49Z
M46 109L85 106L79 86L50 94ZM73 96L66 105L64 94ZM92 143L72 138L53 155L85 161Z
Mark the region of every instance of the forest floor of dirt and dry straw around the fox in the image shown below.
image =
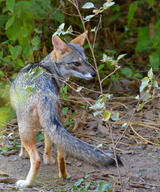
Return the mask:
M110 183L112 190L117 192L122 188L123 192L160 192L160 102L155 99L138 112L135 111L137 102L130 96L113 97L107 107L119 112L119 121L104 123L85 111L81 120L77 118L78 123L72 131L73 135L91 145L103 144L100 149L104 151L113 148L113 140L116 143L120 139L116 152L121 156L123 167L98 169L67 157L67 170L71 177L62 180L58 178L57 163L44 165L42 162L33 187L16 189L15 181L25 178L30 162L18 156L19 149L10 148L0 155L0 191L72 191L74 183L89 173L87 181L94 183L91 184L91 191L99 181L104 181ZM75 110L78 109L75 105ZM123 126L125 122L128 123L127 127ZM13 145L11 141L19 142L16 120L7 126L6 135L11 130L12 135L6 136L2 142L8 145L8 149ZM37 147L42 157L43 142L39 141ZM53 154L56 157L55 147Z

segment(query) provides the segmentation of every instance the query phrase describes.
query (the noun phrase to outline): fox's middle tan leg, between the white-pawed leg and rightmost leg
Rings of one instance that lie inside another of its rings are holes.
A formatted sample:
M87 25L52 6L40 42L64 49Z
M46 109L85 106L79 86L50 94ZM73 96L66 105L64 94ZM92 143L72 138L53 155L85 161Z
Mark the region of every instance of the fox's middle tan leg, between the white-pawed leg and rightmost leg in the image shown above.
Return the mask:
M44 134L43 162L44 162L44 164L54 164L55 163L55 159L52 156L52 141L46 134Z

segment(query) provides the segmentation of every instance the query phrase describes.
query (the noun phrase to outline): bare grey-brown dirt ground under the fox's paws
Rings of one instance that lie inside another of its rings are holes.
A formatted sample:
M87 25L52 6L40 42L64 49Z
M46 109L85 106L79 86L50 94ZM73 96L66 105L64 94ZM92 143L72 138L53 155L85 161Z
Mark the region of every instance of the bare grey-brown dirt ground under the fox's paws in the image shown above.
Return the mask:
M160 150L152 146L133 147L132 154L122 155L124 167L120 169L123 181L124 192L159 192L160 191ZM0 156L0 170L13 176L14 178L25 178L29 170L29 159L21 159L18 155L9 157ZM85 163L79 163L72 159L67 161L67 169L71 178L62 180L58 178L58 168L56 165L41 164L38 177L31 189L16 189L14 184L0 183L0 191L50 191L56 192L61 190L70 191L71 186L87 173L91 173L93 180L113 182L118 180L117 170L110 168L108 170L96 170ZM115 187L115 191L120 191Z

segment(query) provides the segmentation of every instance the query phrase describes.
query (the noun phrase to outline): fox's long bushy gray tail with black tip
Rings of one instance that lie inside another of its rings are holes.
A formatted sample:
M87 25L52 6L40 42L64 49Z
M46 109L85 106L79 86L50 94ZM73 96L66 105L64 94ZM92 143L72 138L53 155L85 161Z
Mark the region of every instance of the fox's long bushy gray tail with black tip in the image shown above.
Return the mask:
M55 110L53 100L43 99L40 106L39 117L41 126L44 127L53 142L60 146L67 154L78 159L89 162L96 166L108 167L115 165L113 153L104 153L92 146L73 137L65 130L59 121ZM122 165L120 158L117 156L119 165Z

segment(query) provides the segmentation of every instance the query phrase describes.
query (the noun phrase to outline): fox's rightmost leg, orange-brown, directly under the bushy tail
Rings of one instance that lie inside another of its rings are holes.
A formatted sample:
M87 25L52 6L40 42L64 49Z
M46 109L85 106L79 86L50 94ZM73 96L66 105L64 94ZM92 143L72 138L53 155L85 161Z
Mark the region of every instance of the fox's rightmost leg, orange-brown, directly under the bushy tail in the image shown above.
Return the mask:
M60 147L57 149L57 160L58 160L58 169L59 169L59 177L65 179L67 177L66 163L64 152Z

